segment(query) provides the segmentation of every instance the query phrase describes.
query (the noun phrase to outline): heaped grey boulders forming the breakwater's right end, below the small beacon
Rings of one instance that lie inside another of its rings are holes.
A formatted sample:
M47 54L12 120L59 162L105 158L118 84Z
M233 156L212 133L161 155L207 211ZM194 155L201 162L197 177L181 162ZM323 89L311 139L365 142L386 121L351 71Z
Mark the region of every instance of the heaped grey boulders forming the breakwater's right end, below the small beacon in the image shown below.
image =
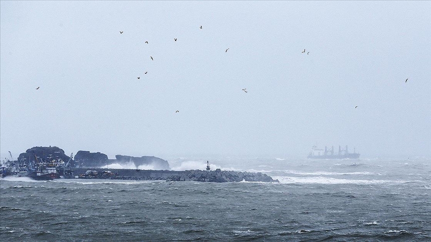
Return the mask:
M190 170L183 174L175 174L167 179L168 181L201 181L201 182L279 182L266 174L260 172L239 172L239 171L215 171Z

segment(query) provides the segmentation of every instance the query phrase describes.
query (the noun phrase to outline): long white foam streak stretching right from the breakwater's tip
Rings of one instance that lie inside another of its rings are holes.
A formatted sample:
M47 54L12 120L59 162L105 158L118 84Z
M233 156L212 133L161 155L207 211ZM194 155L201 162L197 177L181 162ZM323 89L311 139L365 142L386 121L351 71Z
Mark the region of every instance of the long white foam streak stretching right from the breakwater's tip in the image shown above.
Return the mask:
M391 180L355 180L355 179L336 179L332 177L314 176L314 177L287 177L287 176L272 176L272 179L277 179L282 184L292 183L318 183L318 184L399 184L408 182L422 181L391 181Z

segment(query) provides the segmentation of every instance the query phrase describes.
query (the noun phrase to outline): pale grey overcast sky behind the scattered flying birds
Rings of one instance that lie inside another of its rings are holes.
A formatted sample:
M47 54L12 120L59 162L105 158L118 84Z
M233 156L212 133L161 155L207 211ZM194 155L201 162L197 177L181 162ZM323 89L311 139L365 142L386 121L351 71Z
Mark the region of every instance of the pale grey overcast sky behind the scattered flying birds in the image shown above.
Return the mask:
M431 156L431 1L1 1L0 30L1 159Z

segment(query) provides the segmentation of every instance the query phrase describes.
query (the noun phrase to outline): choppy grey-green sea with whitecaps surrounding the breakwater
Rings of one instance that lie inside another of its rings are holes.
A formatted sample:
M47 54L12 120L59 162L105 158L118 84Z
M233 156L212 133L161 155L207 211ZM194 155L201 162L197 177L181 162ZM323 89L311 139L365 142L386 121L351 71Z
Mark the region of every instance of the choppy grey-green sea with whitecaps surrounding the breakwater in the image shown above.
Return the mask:
M212 162L280 183L4 178L0 241L431 241L428 158Z

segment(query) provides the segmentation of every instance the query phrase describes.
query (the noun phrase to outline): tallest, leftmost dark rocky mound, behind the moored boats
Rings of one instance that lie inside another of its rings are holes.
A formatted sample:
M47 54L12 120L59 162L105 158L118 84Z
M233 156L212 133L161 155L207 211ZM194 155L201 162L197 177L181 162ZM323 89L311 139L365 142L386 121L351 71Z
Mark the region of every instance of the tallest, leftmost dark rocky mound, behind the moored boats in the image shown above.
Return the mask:
M58 148L57 146L49 147L33 147L27 149L25 153L20 153L18 156L18 162L20 161L49 161L50 159L62 159L67 162L70 157L64 154L64 150Z

